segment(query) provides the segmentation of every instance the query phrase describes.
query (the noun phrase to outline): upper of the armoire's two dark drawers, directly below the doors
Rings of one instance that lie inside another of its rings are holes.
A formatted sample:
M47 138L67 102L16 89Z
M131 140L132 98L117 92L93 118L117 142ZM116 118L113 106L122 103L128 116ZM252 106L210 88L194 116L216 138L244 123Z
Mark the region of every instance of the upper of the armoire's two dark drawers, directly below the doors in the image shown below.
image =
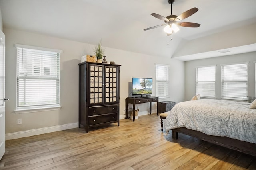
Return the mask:
M118 105L107 105L107 106L94 106L94 107L88 107L88 115L102 115L106 113L115 113L118 112Z

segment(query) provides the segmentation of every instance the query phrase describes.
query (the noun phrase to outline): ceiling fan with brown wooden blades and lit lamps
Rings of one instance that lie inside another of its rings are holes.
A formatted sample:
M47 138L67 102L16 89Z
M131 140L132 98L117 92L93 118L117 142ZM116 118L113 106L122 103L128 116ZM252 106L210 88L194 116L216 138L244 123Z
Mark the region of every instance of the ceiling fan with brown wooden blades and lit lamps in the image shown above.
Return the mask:
M166 25L166 27L164 28L164 31L167 33L167 35L172 35L172 31L177 32L179 30L178 26L182 26L182 27L200 27L200 24L198 23L192 23L192 22L179 22L185 18L188 18L189 16L191 16L192 14L196 13L198 11L198 8L191 8L190 10L187 10L185 12L183 12L182 14L180 14L179 16L176 15L172 15L172 4L174 3L174 0L168 0L168 3L171 4L171 15L164 17L161 16L159 14L156 13L152 13L151 15L163 20L165 23L162 25L156 25L154 27L149 27L144 29L144 31L149 30L149 29L154 29L154 28L158 28L158 27L162 27L164 25Z

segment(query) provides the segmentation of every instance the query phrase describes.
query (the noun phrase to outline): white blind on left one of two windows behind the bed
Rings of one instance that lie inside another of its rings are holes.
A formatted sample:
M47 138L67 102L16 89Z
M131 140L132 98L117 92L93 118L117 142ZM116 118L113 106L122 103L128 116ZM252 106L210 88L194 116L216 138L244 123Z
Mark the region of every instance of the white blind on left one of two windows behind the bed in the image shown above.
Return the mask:
M196 94L215 98L215 68L216 66L196 68Z

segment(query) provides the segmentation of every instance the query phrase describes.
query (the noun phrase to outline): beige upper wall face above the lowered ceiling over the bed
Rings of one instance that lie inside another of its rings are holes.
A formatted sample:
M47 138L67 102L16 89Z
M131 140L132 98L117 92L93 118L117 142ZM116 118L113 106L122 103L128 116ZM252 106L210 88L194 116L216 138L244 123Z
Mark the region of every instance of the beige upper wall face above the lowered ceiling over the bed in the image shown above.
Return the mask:
M254 44L256 43L255 30L256 23L215 33L191 41L183 41L179 45L179 50L175 51L173 58Z

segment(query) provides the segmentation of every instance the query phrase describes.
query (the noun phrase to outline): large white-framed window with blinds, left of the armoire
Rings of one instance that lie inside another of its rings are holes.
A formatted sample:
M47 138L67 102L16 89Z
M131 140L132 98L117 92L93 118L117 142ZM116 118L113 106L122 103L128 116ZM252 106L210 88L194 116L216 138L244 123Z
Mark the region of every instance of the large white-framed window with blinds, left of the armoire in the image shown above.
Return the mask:
M16 44L17 110L60 106L60 53Z

